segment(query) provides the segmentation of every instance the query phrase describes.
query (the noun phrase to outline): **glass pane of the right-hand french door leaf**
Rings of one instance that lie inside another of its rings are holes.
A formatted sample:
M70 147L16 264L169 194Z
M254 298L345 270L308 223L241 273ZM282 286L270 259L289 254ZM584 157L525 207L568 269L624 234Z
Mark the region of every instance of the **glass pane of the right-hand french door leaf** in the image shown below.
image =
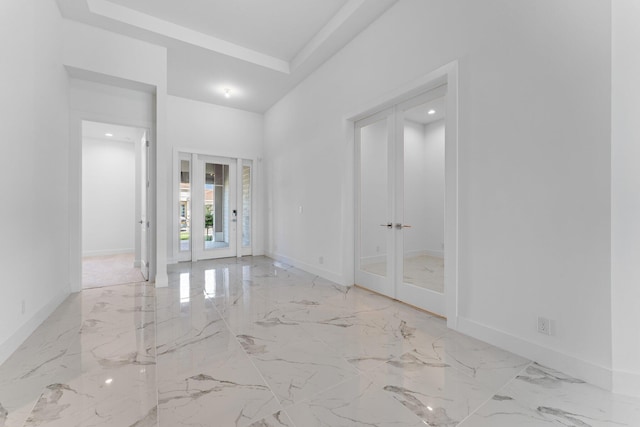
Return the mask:
M444 100L404 114L403 281L444 292Z

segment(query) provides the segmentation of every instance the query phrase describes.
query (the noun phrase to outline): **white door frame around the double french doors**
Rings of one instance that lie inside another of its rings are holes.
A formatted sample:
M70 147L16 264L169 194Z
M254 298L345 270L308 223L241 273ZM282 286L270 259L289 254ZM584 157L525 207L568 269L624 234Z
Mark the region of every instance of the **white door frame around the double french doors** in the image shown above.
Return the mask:
M358 200L359 194L359 155L357 151L357 129L355 123L373 116L383 110L393 108L398 104L410 100L422 93L428 92L439 86L447 85L446 112L445 112L445 316L447 326L457 329L459 315L459 191L458 191L458 62L453 61L420 78L401 86L393 92L363 106L355 114L347 116L346 122L349 129L349 142L353 143L354 159L352 167L354 174L353 189L354 200ZM356 277L358 260L356 248L359 238L359 209L353 209L353 277ZM391 267L392 269L394 267ZM394 272L395 274L395 272ZM355 281L355 280L354 280ZM395 294L395 289L394 289Z

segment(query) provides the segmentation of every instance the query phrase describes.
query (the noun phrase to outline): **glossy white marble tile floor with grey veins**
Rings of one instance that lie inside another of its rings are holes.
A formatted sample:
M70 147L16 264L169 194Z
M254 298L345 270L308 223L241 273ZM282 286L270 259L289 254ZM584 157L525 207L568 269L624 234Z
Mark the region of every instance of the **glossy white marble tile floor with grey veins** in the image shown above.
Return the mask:
M615 395L264 257L70 296L0 366L0 427L640 426Z

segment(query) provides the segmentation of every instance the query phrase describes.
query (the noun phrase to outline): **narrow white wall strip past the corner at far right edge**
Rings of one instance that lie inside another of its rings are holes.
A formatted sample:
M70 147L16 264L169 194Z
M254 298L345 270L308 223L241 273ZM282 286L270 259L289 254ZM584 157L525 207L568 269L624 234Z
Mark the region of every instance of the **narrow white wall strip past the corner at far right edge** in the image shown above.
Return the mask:
M611 261L614 390L640 395L640 3L613 5Z

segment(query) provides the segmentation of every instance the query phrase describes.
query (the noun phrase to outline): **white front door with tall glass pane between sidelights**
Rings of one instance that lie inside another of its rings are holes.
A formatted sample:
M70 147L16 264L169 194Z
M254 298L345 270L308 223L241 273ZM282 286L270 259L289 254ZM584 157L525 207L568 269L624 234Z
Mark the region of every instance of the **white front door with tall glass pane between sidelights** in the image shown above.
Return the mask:
M196 157L190 226L193 260L236 256L237 159Z

